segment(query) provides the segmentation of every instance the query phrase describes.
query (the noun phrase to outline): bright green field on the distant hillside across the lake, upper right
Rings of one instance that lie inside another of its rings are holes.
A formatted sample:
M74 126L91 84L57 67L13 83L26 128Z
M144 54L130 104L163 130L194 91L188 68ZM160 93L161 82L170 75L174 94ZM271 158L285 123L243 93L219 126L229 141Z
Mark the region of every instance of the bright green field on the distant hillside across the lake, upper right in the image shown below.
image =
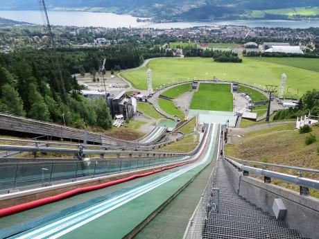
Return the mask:
M295 15L302 16L314 16L319 15L319 8L281 8L281 9L268 9L268 10L252 10L250 12L251 17L263 18L265 14L274 14L274 15L286 15L289 17L294 17Z

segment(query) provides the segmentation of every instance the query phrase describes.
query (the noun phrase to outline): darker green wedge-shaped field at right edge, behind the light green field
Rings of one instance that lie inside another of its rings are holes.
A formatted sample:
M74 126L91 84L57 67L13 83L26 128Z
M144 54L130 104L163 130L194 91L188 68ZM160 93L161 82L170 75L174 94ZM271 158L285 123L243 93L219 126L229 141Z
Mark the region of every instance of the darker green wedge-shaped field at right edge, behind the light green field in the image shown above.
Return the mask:
M319 59L300 57L254 57L255 60L319 72Z

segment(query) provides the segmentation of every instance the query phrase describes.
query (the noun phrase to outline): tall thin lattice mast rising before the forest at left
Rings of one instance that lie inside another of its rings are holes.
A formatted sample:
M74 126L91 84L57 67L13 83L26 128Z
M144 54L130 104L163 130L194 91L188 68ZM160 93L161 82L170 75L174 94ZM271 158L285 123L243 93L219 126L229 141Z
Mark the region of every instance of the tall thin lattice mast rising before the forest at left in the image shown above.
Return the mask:
M65 103L67 103L67 107L69 109L69 98L67 98L67 89L65 88L64 78L61 70L60 61L58 59L58 55L56 54L56 45L53 37L53 33L51 30L51 25L48 17L48 12L46 12L46 5L44 0L38 0L40 11L41 11L41 17L43 21L43 26L46 34L49 36L49 42L51 44L51 61L53 66L55 66L56 70L58 71L61 88L62 88L62 94L64 96Z

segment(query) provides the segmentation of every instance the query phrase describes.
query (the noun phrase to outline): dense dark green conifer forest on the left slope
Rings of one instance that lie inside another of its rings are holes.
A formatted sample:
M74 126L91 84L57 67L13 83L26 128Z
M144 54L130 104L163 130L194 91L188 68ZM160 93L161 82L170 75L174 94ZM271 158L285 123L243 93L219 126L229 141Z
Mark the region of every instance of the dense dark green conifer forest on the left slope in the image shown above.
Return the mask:
M144 57L170 55L160 48L147 50L131 46L110 48L58 49L67 98L51 51L29 48L0 55L0 112L27 116L41 121L65 123L83 128L85 125L111 127L110 110L103 98L87 99L78 94L80 86L71 74L97 71L106 59L105 68L137 67ZM67 104L69 103L69 105Z

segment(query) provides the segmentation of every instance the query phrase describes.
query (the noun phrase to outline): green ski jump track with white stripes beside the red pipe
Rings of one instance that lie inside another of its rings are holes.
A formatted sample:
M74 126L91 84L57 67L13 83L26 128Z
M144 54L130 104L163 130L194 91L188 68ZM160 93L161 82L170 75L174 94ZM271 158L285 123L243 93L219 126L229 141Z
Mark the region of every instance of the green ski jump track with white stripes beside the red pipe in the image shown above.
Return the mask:
M220 134L221 125L210 124L179 165L0 218L9 226L0 238L126 237L218 157Z

